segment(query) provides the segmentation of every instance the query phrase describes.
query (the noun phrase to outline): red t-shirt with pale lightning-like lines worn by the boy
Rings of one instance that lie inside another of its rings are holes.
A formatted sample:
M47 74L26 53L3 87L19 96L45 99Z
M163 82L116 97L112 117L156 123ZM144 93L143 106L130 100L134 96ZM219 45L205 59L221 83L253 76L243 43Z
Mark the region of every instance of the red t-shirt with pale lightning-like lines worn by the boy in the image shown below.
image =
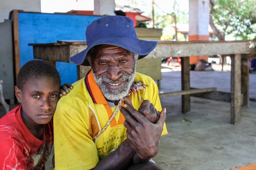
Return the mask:
M0 119L0 169L45 169L53 145L53 119L37 139L20 115L21 105Z

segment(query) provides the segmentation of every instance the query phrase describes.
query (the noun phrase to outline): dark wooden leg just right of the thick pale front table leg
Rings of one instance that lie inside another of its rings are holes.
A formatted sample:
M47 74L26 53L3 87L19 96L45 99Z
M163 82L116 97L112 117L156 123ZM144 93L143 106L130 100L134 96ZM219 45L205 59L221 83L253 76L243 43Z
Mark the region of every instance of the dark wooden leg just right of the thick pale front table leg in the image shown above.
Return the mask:
M241 93L243 94L242 106L249 107L249 59L241 60Z

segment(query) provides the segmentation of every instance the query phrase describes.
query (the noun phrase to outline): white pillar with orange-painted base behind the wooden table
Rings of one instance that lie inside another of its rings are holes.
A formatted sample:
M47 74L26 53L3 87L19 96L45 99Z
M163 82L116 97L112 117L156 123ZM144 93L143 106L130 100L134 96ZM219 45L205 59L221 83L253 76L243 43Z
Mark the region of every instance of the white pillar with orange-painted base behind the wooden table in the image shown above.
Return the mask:
M189 0L189 41L209 41L210 0ZM189 64L209 56L190 56Z

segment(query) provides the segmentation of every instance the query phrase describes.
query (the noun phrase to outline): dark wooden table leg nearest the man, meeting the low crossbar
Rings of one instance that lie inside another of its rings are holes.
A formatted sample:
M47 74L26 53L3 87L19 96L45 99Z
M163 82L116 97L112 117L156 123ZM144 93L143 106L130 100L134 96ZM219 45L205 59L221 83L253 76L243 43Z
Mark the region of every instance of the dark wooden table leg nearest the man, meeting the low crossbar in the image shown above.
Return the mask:
M190 90L189 57L181 57L181 90ZM190 95L181 95L181 111L190 111Z

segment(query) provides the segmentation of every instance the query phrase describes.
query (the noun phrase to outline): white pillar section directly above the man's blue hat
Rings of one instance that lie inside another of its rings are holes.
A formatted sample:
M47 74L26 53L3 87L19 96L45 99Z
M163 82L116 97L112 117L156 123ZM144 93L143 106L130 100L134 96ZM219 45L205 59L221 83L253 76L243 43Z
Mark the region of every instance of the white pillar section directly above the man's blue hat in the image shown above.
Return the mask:
M115 0L94 0L94 15L116 15Z

